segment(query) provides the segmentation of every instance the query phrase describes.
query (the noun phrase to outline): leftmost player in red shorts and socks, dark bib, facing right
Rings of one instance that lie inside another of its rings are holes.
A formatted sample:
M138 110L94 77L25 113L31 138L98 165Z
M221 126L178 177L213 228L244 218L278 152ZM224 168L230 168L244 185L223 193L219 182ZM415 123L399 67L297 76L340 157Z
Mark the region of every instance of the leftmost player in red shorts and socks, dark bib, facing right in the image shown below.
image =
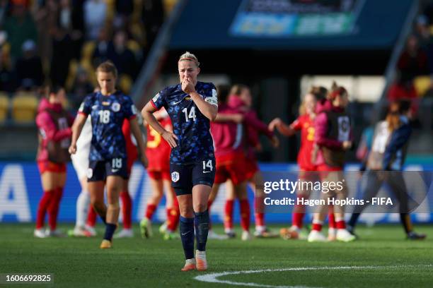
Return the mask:
M57 227L59 204L66 182L67 148L71 142L71 125L74 119L62 107L66 99L64 89L52 88L38 108L36 125L39 129L37 167L40 171L43 196L37 208L35 237L63 236ZM50 230L43 230L45 213L48 211Z

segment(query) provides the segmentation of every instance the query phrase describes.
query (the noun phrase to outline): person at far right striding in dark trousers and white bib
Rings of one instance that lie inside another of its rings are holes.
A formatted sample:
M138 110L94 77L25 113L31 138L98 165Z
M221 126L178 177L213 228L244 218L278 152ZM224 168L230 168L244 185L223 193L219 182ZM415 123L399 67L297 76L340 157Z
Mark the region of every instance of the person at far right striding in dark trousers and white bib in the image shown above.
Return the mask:
M391 103L386 119L379 121L374 128L371 151L366 161L366 186L364 189L364 203L366 200L376 197L383 184L386 182L398 198L400 203L400 222L410 240L425 239L425 234L417 234L413 231L409 211L411 205L408 200L408 191L400 171L405 162L406 150L412 128L410 127L409 114L410 102L401 100ZM388 172L383 172L386 170ZM355 226L362 211L367 207L363 205L357 208L347 223L347 229L354 234Z

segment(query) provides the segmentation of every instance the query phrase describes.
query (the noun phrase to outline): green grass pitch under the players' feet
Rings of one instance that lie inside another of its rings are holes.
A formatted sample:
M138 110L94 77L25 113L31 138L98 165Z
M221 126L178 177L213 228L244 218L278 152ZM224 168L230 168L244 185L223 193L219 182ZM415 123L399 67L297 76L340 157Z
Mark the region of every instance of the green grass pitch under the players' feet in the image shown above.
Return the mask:
M180 240L163 241L156 226L154 238L142 239L136 225L134 238L115 239L110 250L98 248L102 228L91 239L35 239L33 224L2 223L0 273L51 273L54 287L230 287L233 282L249 283L244 287L433 287L433 226L417 227L428 235L425 241L405 240L400 225L359 227L361 239L348 244L209 240L207 272L180 272ZM216 231L221 233L221 227ZM224 283L195 279L245 270L268 271L217 277Z

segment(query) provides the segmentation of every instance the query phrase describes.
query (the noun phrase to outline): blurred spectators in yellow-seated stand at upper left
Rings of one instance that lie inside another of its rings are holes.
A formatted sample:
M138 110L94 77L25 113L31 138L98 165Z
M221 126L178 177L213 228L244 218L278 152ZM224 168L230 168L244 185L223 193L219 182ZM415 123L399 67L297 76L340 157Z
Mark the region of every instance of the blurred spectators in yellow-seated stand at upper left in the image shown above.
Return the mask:
M128 93L175 0L1 0L0 122L33 123L42 85L76 109L110 59Z

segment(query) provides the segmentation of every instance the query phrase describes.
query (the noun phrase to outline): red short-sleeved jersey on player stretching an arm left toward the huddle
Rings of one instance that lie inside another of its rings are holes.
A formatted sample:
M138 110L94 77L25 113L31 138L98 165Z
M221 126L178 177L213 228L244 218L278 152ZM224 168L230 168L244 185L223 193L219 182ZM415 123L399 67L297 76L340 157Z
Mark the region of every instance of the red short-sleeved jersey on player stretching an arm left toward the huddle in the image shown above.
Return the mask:
M298 153L299 169L305 171L315 171L316 166L311 162L311 154L314 145L314 124L308 114L298 117L292 124L291 128L301 131L301 148Z

